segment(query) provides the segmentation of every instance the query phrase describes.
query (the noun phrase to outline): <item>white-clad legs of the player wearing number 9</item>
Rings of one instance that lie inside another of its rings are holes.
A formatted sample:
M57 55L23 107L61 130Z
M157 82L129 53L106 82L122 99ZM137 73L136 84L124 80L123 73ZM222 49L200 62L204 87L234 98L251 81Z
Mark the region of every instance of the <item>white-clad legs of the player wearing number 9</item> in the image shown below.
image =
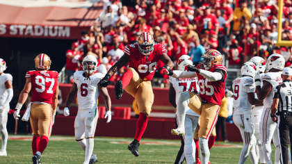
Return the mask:
M241 131L241 137L243 138L243 149L241 150L241 156L239 158L238 164L245 163L248 156L248 150L250 150L249 156L250 161L252 161L252 164L257 163L257 153L255 150L256 145L256 138L253 133L245 132L244 128L244 115L234 115L233 116L234 124L238 127L239 131Z

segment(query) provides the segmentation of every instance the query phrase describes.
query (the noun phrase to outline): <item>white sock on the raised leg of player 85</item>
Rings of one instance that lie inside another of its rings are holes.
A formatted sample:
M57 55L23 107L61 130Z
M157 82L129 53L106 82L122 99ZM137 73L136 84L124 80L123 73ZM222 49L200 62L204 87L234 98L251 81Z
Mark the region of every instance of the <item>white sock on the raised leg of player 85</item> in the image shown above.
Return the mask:
M184 120L186 118L188 104L190 104L190 94L188 92L182 92L177 105L177 118L179 120L179 127L177 129L184 129Z

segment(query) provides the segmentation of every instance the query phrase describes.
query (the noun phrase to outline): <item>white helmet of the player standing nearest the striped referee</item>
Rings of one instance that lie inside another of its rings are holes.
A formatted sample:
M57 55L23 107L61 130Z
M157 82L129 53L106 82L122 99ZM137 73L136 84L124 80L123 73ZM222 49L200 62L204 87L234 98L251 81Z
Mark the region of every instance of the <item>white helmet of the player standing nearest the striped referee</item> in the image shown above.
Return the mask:
M285 67L285 58L280 54L272 54L268 57L266 66L268 72L272 68L283 70Z

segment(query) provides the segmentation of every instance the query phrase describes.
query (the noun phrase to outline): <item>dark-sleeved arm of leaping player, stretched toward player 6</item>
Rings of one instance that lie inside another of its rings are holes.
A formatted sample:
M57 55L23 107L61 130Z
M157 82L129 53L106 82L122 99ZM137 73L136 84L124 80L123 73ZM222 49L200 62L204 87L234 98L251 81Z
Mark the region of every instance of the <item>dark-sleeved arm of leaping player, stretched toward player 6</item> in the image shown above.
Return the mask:
M128 65L129 61L131 61L131 58L124 54L120 60L118 60L117 63L115 63L115 65L113 65L113 67L108 70L108 73L101 81L99 81L98 85L106 87L108 85L108 79L113 76L113 74L115 74L115 72L117 72L117 70L119 70L121 67Z

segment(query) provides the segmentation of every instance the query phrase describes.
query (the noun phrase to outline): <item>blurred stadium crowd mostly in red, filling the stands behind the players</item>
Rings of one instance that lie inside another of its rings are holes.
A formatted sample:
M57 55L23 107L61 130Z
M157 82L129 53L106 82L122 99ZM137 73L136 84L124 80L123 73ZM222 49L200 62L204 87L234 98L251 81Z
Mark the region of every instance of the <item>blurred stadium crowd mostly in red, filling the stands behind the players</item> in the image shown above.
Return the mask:
M132 0L122 6L119 0L104 1L104 9L89 31L72 43L66 52L67 77L82 69L81 61L91 54L99 62L97 72L106 74L124 54L124 46L134 44L143 32L152 33L162 43L174 63L188 55L197 65L206 49L217 49L227 68L241 68L253 56L266 59L282 54L291 65L291 47L277 47L277 1L262 0ZM292 5L284 1L282 40L292 39ZM158 63L157 69L163 63ZM126 67L113 76L115 84ZM162 77L155 74L156 77ZM168 83L168 76L163 76ZM67 79L70 83L72 78Z

